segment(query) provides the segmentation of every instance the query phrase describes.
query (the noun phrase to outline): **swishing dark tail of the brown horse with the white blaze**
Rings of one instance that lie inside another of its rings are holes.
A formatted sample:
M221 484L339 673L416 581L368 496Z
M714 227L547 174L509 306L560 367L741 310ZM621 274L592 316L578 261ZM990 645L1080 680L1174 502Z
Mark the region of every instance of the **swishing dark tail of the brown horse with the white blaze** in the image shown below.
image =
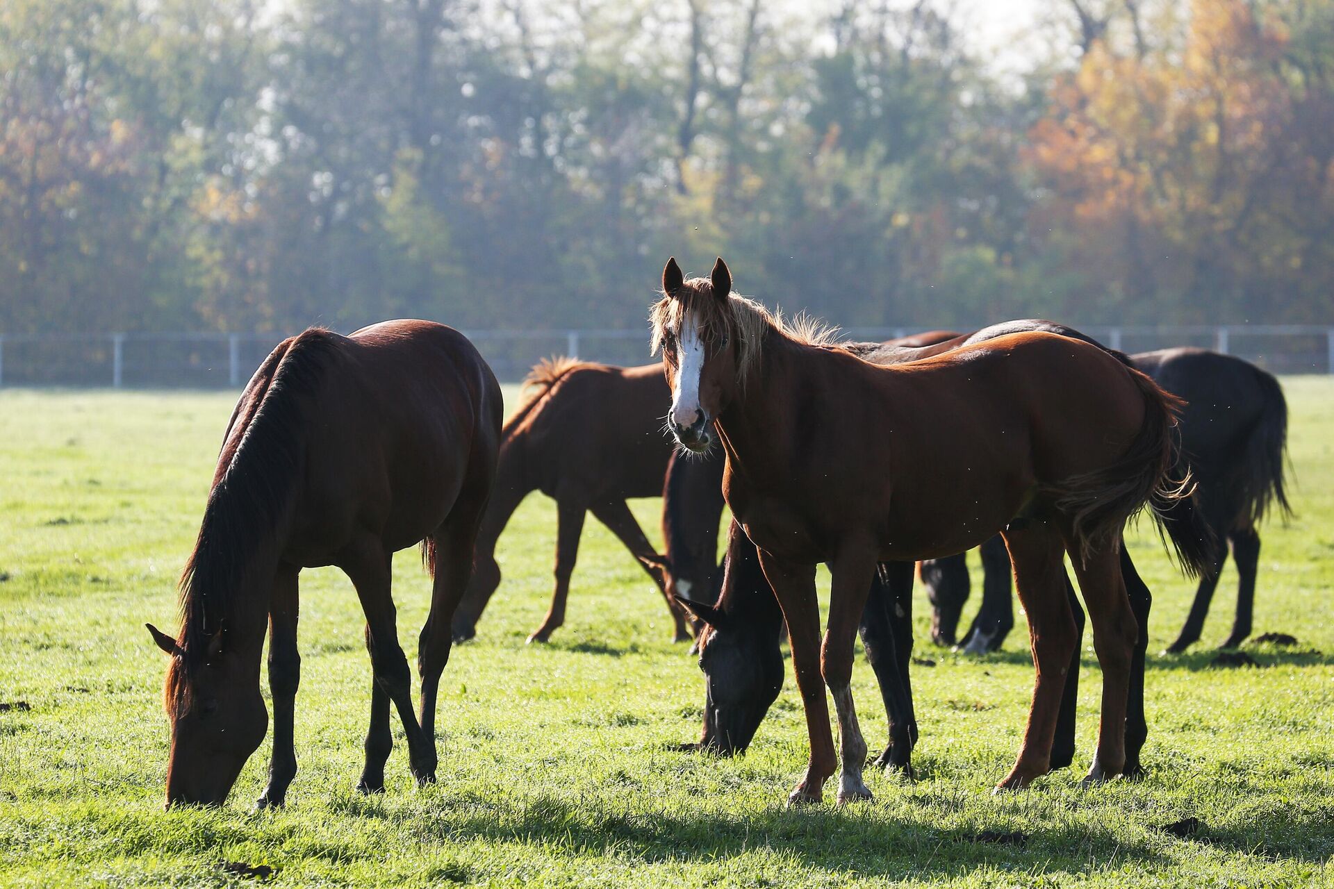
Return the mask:
M1190 472L1179 461L1177 417L1185 403L1147 375L1131 367L1126 371L1145 400L1135 440L1110 466L1049 485L1047 492L1071 517L1074 536L1086 552L1149 506L1182 569L1199 577L1211 569L1215 541L1199 513Z

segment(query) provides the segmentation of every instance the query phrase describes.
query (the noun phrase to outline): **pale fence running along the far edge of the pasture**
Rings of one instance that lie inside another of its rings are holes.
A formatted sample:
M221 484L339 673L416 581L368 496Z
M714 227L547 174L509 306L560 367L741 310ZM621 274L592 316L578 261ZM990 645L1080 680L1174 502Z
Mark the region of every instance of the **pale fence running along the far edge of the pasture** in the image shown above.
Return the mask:
M924 328L848 328L854 340L886 340ZM1197 345L1238 355L1275 373L1334 373L1334 327L1294 324L1082 327L1111 348L1147 352ZM647 364L644 331L466 331L496 376L516 381L535 361L571 355ZM239 388L279 335L0 335L0 387Z

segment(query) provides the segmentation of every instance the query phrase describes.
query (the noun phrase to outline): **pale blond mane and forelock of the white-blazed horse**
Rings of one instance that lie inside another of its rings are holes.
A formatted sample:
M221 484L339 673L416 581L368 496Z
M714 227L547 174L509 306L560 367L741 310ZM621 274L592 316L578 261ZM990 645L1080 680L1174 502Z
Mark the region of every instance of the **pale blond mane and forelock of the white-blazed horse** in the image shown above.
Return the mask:
M791 320L782 312L740 296L728 293L726 300L714 296L714 284L707 277L692 277L674 295L663 295L648 312L652 328L650 352L656 353L668 333L680 331L682 320L690 312L706 340L726 337L736 344L736 377L742 387L759 365L764 340L776 333L794 343L814 347L836 347L839 329L812 319L804 312Z

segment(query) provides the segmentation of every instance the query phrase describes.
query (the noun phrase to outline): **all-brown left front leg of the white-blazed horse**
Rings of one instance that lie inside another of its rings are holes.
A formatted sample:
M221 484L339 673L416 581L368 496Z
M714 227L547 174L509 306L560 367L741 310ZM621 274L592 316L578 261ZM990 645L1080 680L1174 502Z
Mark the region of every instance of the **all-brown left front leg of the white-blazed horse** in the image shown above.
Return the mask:
M815 597L815 565L783 561L763 549L759 550L759 564L787 621L792 672L802 693L811 745L806 777L788 794L787 802L819 802L824 796L824 781L834 774L835 758L828 701L820 678L820 605Z

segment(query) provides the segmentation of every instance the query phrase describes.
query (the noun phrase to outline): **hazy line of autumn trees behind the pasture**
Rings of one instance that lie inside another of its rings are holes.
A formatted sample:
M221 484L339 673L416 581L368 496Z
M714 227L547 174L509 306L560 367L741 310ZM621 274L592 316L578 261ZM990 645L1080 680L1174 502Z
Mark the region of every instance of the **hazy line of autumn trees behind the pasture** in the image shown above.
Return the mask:
M0 333L1334 321L1334 0L5 0Z

